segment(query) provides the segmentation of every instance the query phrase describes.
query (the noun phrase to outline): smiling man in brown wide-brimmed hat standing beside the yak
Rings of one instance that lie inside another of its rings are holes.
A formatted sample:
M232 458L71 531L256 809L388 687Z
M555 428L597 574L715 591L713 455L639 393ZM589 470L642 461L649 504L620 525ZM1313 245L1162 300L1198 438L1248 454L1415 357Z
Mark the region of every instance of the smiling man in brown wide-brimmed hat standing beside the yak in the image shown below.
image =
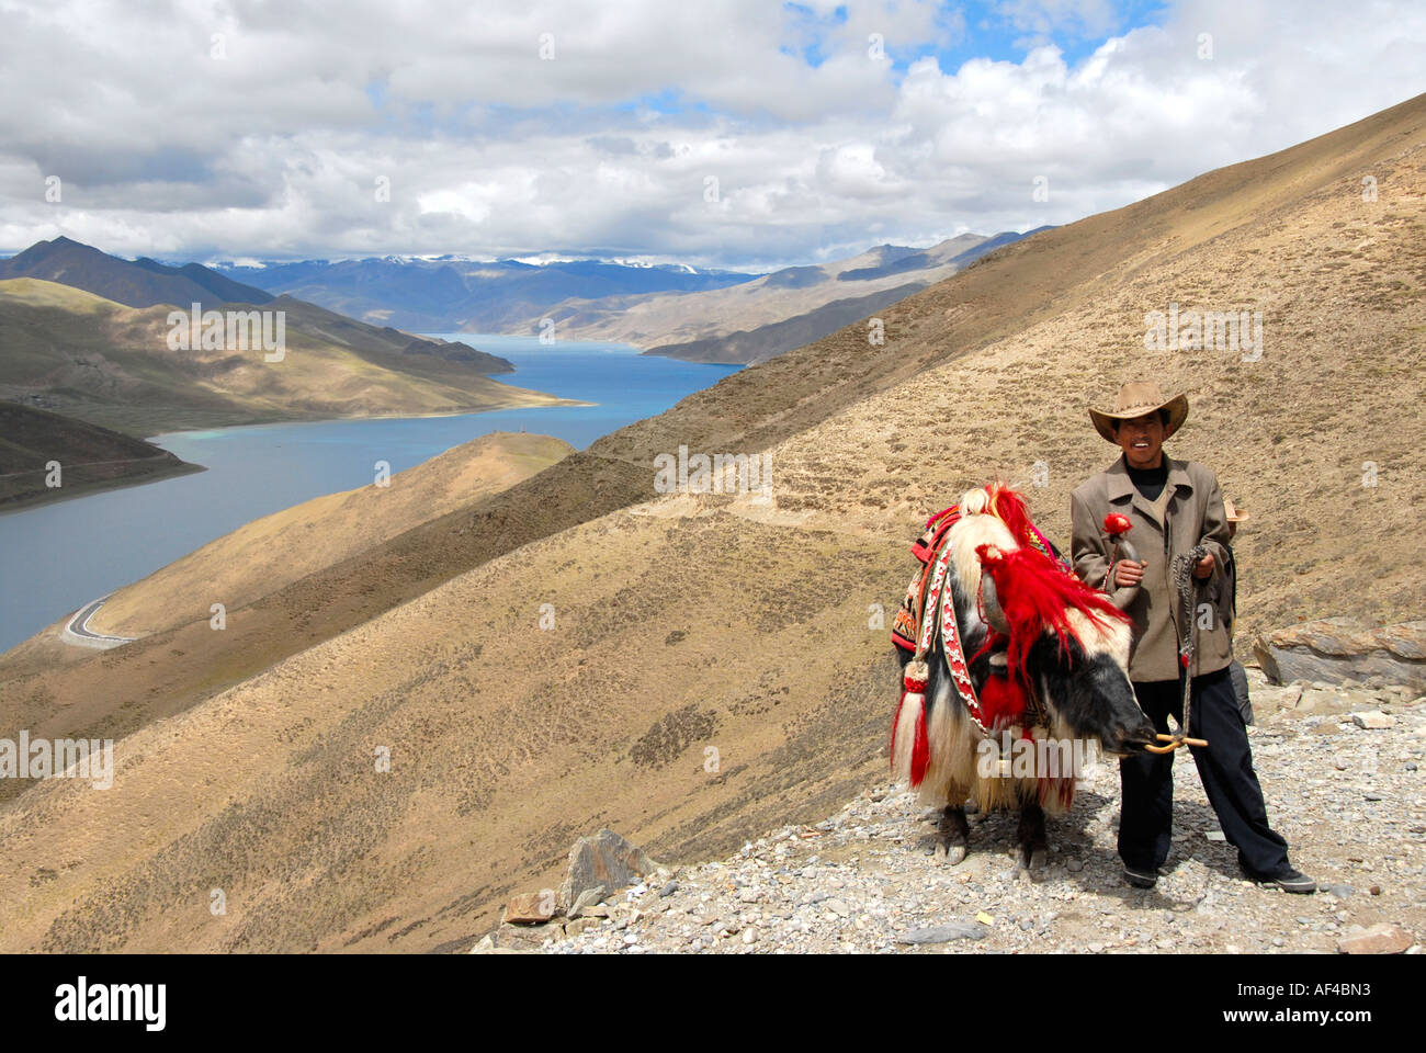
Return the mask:
M1224 836L1238 849L1249 878L1286 892L1315 892L1316 883L1288 862L1288 843L1268 825L1262 788L1252 768L1248 731L1228 672L1232 641L1224 618L1196 616L1179 625L1181 601L1171 581L1174 556L1202 545L1206 555L1192 569L1204 592L1225 585L1228 519L1218 479L1195 461L1164 454L1164 441L1188 418L1188 398L1164 398L1158 384L1138 381L1119 388L1114 410L1089 410L1089 419L1107 441L1122 451L1119 459L1077 488L1071 497L1075 574L1097 588L1115 592L1138 586L1125 608L1134 619L1129 679L1139 706L1161 732L1169 713L1182 723L1184 676L1189 678L1191 726L1186 733L1206 739L1191 746L1209 803ZM1111 565L1112 542L1104 518L1118 512L1129 519L1142 562ZM1209 605L1209 612L1214 608ZM1205 625L1206 622L1206 625ZM1185 634L1194 632L1192 669L1179 661ZM1119 858L1125 879L1154 887L1168 858L1174 822L1174 753L1139 753L1119 760L1122 808Z

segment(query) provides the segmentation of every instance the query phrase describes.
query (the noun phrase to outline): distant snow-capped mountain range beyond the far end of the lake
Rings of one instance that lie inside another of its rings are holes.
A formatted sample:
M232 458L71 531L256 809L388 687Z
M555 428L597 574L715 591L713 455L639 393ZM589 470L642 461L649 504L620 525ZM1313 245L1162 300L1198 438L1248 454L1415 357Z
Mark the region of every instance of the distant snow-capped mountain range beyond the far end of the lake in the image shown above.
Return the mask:
M930 248L886 244L771 274L449 257L218 264L217 270L374 324L615 341L672 358L747 364L876 314L1021 237L963 234Z

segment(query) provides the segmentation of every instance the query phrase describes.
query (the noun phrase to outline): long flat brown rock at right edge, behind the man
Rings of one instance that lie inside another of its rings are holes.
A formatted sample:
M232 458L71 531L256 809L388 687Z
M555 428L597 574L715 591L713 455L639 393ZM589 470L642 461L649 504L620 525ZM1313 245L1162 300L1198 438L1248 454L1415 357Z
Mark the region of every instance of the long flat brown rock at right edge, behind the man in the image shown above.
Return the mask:
M1253 641L1268 679L1330 683L1405 683L1426 691L1426 621L1368 626L1322 618L1276 629Z

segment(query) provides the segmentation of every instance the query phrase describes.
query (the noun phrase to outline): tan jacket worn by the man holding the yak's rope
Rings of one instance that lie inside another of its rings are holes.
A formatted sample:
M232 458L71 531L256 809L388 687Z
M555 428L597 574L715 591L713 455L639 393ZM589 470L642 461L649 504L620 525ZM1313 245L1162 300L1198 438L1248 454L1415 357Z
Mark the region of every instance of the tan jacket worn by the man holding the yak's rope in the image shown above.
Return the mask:
M1198 584L1196 641L1192 673L1215 672L1232 661L1233 646L1229 628L1219 616L1221 596L1229 582L1224 574L1228 545L1228 514L1218 478L1196 461L1175 461L1164 454L1168 465L1169 494L1165 509L1168 529L1154 514L1149 502L1129 479L1124 455L1108 469L1078 487L1070 497L1074 536L1071 552L1075 574L1094 588L1115 592L1105 572L1112 554L1112 542L1104 531L1104 517L1121 512L1134 528L1128 541L1144 561L1144 582L1139 595L1127 614L1134 618L1134 651L1129 655L1131 681L1178 679L1178 648L1184 628L1179 625L1179 602L1174 596L1171 579L1172 559L1198 544L1214 554L1214 572Z

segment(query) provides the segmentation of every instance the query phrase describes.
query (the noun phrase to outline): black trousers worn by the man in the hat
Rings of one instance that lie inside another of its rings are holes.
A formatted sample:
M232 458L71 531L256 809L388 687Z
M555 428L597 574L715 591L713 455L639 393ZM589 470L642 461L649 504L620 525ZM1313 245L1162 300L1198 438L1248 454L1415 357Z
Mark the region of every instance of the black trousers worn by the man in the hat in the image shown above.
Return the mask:
M1168 731L1169 713L1182 723L1182 679L1135 682L1134 693L1158 731ZM1268 825L1248 731L1226 668L1194 678L1189 719L1194 726L1188 733L1208 739L1206 748L1189 751L1224 836L1238 849L1238 862L1253 876L1286 870L1288 842ZM1168 859L1174 832L1174 753L1122 758L1119 788L1119 859L1154 873Z

